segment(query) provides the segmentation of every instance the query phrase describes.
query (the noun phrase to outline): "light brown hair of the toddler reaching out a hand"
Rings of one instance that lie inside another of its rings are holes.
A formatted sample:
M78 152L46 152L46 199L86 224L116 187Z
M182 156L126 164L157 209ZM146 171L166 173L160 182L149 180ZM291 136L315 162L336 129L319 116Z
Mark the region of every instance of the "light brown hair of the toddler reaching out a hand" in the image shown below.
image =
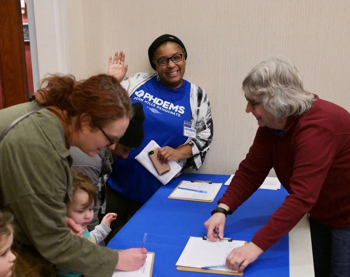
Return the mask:
M89 178L89 176L86 176L79 171L72 170L72 179L73 179L73 186L72 186L73 194L78 189L81 189L82 191L86 192L87 195L89 195L89 200L84 205L84 208L90 207L92 204L96 205L97 193L96 193L95 186L91 182L91 179Z

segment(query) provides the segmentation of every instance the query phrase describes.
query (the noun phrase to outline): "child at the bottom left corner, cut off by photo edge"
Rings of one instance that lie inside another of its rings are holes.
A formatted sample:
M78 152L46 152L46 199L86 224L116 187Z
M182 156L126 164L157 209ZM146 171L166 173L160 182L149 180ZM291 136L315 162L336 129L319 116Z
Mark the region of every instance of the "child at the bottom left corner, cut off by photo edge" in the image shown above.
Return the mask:
M10 277L16 256L11 251L13 228L11 220L0 212L0 277Z

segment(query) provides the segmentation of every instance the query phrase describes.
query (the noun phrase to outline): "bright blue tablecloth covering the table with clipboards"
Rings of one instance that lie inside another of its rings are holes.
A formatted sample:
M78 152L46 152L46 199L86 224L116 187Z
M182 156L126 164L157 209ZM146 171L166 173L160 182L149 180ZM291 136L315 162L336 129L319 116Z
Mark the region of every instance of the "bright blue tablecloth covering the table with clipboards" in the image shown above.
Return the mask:
M222 186L212 203L168 199L168 196L181 180L224 183L228 178L229 175L181 174L168 185L162 186L107 247L112 249L141 247L144 233L147 233L145 247L148 251L155 252L152 277L219 276L211 273L179 271L176 270L175 263L190 236L202 237L207 234L203 223L210 217L211 211L217 206L217 200L221 198L227 186ZM258 189L235 213L227 217L225 237L249 242L286 196L287 192L283 187L277 191ZM254 263L248 265L243 276L289 276L288 235L261 254Z

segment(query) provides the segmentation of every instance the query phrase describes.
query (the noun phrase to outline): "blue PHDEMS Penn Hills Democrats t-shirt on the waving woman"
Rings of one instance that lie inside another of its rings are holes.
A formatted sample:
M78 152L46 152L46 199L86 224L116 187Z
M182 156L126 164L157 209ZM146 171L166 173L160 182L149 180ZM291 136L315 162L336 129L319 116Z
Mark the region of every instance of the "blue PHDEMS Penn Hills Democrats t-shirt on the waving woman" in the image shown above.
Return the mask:
M127 159L113 162L113 174L107 183L125 198L144 203L161 186L135 157L152 139L160 145L179 147L185 143L183 122L191 121L191 84L186 80L180 88L171 89L157 81L156 76L140 86L131 96L132 103L140 102L144 107L145 138L139 148L131 151Z

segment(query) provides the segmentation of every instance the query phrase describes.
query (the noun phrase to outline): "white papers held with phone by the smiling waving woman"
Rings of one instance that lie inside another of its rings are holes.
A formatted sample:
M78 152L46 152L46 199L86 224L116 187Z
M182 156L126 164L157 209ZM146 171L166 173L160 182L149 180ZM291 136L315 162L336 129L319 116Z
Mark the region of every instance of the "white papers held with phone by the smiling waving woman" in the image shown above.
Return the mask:
M160 147L154 140L151 140L146 147L135 157L135 159L143 165L151 174L157 178L163 185L166 185L171 179L173 179L180 171L181 166L177 164L176 161L169 161L170 171L158 175L154 165L152 164L151 159L148 157L148 152L154 148Z

